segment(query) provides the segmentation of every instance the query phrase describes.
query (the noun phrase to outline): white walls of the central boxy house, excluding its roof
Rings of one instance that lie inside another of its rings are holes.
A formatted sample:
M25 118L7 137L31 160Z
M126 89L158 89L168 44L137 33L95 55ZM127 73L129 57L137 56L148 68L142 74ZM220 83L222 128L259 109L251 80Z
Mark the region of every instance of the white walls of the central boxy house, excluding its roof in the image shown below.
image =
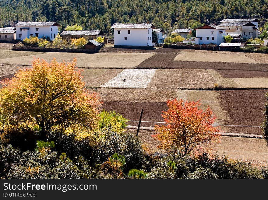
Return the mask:
M118 34L118 30L120 30L120 34ZM128 34L128 30L130 30L130 34ZM127 37L127 40L125 40L125 37ZM114 28L114 45L153 46L152 29Z

